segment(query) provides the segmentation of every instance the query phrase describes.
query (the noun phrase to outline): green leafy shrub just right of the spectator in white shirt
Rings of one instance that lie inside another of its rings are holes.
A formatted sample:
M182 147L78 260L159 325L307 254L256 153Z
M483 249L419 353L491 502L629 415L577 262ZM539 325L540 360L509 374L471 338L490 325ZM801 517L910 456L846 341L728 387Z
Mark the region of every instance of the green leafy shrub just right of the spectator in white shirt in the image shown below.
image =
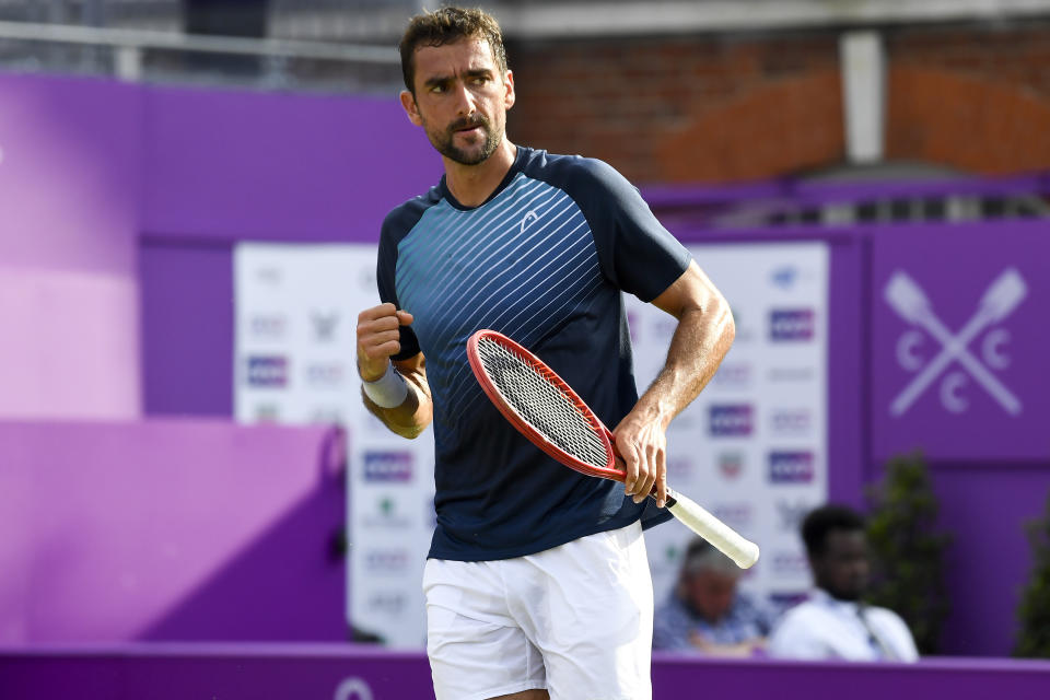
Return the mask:
M949 610L944 556L952 537L934 532L940 509L925 459L920 453L892 457L867 495L875 560L868 600L905 619L920 654L936 654Z

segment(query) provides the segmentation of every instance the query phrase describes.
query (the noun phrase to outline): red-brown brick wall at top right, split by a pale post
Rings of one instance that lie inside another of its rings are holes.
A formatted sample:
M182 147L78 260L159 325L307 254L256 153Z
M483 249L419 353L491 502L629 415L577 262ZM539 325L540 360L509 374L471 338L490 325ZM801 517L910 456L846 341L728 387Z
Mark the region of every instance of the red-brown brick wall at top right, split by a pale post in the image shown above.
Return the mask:
M888 27L886 155L1050 166L1050 24ZM838 33L509 45L512 140L640 183L743 182L845 158Z

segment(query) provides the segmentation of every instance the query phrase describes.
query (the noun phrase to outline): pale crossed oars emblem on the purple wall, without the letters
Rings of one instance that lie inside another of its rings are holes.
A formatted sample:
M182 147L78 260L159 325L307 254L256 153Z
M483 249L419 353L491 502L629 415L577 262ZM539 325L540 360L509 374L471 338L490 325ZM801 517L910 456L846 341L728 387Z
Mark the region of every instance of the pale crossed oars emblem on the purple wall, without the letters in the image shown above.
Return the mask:
M952 362L961 364L1008 413L1019 413L1020 400L973 357L968 346L988 326L1010 316L1027 294L1028 287L1020 272L1014 268L1003 270L984 291L970 319L958 332L953 334L934 313L933 304L922 288L906 272L894 272L886 284L886 302L901 318L925 329L942 347L937 355L897 395L890 404L890 415L900 416L907 411Z

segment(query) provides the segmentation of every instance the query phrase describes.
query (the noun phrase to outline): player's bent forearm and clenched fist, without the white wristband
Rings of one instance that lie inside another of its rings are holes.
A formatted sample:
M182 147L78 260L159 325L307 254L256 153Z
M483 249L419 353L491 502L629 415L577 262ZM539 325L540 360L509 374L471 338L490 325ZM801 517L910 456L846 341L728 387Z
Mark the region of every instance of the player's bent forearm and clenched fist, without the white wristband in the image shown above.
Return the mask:
M399 330L401 325L412 323L412 315L398 311L394 304L380 304L358 315L358 373L365 382L372 382L386 372L390 357L401 350ZM364 392L361 399L365 407L392 431L402 438L418 436L433 419L433 402L427 383L427 360L422 352L407 360L393 361L405 377L408 395L400 406L383 408L372 401Z

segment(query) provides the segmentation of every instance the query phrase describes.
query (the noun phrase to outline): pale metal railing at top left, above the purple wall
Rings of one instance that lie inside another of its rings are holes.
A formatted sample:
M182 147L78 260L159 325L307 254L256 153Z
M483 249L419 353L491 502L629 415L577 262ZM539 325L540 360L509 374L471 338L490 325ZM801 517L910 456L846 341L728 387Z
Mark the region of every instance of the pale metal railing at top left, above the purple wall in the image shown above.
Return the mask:
M149 49L266 57L280 56L351 63L398 65L400 62L397 49L393 46L294 42L237 36L201 36L174 32L114 30L30 22L0 22L0 39L109 47L115 51L117 77L127 81L141 80L142 52Z

